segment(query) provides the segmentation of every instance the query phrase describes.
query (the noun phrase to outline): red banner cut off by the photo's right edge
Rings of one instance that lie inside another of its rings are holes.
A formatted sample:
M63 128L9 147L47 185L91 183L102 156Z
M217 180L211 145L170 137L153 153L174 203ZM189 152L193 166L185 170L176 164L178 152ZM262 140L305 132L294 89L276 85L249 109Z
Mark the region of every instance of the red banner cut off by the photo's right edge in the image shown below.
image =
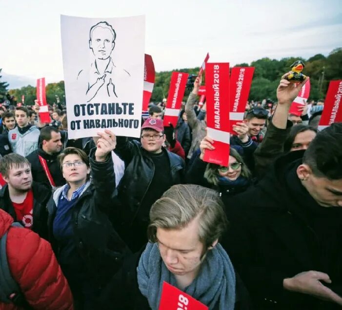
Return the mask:
M330 81L318 129L342 122L342 80Z

